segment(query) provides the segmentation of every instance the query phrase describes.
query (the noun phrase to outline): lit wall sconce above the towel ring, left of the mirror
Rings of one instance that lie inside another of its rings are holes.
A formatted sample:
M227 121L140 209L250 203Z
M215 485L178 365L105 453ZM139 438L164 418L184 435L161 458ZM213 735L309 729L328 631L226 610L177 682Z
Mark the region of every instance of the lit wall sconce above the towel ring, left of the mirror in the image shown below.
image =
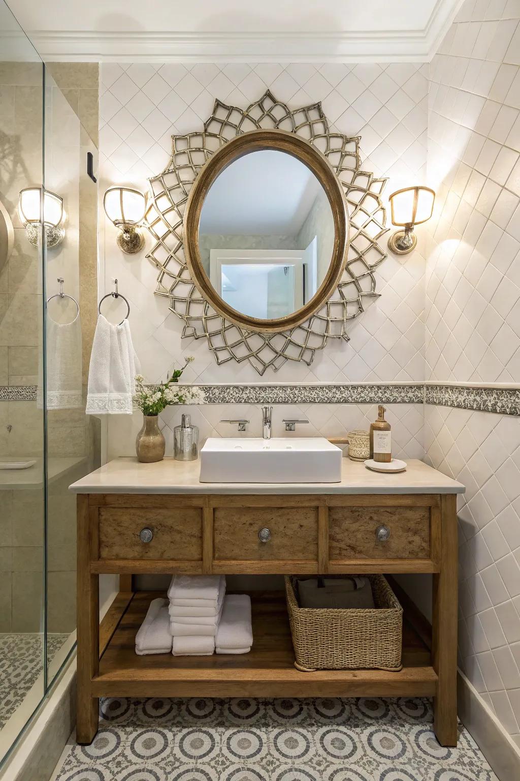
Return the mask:
M119 228L117 243L127 255L135 255L144 247L144 237L137 230L147 210L147 199L132 187L108 187L104 194L104 211Z

